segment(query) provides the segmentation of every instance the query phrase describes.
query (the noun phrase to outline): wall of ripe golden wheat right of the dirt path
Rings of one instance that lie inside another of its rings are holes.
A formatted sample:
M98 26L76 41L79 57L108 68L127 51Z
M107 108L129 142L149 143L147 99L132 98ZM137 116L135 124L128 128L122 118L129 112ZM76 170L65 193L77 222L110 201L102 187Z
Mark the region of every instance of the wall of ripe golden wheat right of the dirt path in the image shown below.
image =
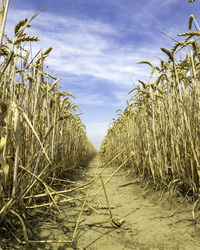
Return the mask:
M119 164L134 154L126 163L129 172L158 189L178 189L199 199L200 30L193 16L189 28L171 50L161 48L167 60L159 66L140 62L151 67L150 79L130 91L132 97L109 128L101 154L109 161L124 150Z

